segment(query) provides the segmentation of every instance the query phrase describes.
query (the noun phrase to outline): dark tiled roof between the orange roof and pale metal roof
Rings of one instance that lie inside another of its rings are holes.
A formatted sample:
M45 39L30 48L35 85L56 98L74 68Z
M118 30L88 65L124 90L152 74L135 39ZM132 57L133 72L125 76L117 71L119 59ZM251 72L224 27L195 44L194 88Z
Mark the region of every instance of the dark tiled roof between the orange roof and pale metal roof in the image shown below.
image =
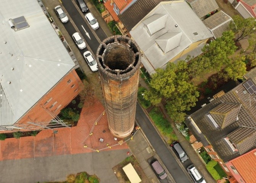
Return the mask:
M143 19L160 2L167 0L138 0L130 6L124 13L118 15L124 27L130 32L132 28Z

